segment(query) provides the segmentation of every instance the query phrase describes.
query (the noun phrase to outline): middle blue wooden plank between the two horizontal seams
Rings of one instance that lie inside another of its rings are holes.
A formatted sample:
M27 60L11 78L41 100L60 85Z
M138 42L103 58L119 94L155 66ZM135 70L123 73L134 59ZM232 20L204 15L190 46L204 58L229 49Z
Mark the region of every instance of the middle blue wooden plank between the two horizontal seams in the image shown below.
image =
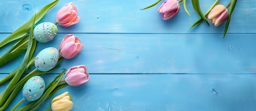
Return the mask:
M0 40L7 34L0 34ZM38 43L35 54L47 47L58 48L58 34L48 43ZM75 34L84 49L64 60L60 73L84 64L93 74L254 74L255 34ZM2 54L6 49L1 49ZM10 73L23 56L0 68Z

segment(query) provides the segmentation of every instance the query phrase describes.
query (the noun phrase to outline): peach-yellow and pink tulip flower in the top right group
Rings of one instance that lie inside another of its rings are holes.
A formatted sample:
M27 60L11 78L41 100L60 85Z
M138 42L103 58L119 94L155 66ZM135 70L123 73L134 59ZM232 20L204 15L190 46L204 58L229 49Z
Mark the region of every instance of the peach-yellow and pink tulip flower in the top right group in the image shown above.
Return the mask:
M228 19L228 9L223 5L214 6L208 15L208 19L210 19L214 26L218 26Z

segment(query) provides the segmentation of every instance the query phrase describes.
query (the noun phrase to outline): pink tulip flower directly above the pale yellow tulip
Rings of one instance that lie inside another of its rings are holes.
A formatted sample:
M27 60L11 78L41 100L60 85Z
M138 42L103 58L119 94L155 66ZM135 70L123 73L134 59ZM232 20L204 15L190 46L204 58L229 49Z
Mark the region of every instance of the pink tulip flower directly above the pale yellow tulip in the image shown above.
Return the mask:
M90 79L87 68L84 65L74 66L69 68L65 74L65 81L70 86L79 86Z

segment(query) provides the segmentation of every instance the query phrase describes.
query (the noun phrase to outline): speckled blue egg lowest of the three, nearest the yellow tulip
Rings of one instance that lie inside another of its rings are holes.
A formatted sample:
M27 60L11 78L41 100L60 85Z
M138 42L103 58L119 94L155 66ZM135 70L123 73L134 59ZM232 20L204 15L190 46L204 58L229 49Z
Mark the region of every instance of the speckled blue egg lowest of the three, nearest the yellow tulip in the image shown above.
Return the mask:
M23 86L23 98L28 101L39 99L45 89L45 83L41 76L31 77Z

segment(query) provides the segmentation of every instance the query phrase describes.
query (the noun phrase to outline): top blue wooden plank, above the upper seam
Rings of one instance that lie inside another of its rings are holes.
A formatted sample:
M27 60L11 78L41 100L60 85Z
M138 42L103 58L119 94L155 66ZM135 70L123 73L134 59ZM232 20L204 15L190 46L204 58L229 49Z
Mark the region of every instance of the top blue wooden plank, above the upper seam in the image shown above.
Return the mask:
M25 23L42 6L53 0L1 0L0 32L11 33ZM191 0L187 8L188 17L182 4L180 12L172 19L164 21L157 12L158 7L141 11L140 9L156 0L60 0L39 22L55 23L56 12L65 4L73 1L77 6L81 21L69 28L59 27L59 32L69 33L223 33L225 24L210 27L202 23L192 30L188 28L199 17L194 12ZM206 12L214 0L200 0L201 9ZM238 0L228 28L228 33L256 32L256 0ZM220 0L219 4L227 5L228 0Z

